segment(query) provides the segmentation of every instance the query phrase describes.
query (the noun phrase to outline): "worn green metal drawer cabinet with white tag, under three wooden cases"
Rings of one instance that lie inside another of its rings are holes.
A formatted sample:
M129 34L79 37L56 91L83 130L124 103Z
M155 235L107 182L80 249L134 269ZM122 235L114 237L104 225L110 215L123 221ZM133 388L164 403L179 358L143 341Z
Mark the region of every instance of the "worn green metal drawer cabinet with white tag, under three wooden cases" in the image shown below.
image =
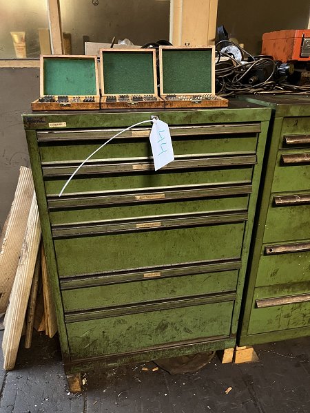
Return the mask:
M151 112L23 116L65 372L236 343L271 109L163 111L176 159L155 172Z

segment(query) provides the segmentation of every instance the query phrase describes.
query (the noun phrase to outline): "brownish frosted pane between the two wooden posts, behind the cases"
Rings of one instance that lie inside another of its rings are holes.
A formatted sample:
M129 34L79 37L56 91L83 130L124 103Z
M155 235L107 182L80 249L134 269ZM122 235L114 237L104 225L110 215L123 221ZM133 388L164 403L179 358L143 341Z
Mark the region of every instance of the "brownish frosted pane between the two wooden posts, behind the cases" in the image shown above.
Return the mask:
M113 36L136 45L169 39L169 0L61 0L63 32L72 36L72 54L83 54L83 36L110 43Z

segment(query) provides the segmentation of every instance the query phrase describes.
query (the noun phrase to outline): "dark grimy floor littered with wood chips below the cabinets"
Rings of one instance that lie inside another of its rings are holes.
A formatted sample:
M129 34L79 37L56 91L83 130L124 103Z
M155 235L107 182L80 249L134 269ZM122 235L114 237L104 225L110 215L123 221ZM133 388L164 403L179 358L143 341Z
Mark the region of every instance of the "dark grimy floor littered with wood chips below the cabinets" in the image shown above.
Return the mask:
M256 346L258 363L221 365L216 357L194 374L141 370L152 363L89 372L83 393L70 394L58 337L36 334L30 350L20 348L15 370L0 370L0 412L309 413L309 344Z

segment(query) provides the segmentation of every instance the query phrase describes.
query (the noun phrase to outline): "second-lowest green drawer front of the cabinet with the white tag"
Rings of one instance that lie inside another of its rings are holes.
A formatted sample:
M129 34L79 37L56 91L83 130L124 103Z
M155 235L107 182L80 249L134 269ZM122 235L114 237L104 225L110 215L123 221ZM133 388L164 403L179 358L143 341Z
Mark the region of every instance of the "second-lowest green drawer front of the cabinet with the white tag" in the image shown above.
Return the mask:
M161 276L161 271L145 275L149 277L137 282L63 290L65 313L214 293L236 293L238 270L167 278Z

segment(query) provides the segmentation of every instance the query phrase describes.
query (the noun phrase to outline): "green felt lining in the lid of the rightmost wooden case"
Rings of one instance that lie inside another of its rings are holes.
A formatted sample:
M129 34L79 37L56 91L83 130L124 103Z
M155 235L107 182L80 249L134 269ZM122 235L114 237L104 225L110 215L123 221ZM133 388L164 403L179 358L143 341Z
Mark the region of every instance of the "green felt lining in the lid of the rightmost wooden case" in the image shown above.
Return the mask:
M163 93L211 93L212 50L163 49Z

